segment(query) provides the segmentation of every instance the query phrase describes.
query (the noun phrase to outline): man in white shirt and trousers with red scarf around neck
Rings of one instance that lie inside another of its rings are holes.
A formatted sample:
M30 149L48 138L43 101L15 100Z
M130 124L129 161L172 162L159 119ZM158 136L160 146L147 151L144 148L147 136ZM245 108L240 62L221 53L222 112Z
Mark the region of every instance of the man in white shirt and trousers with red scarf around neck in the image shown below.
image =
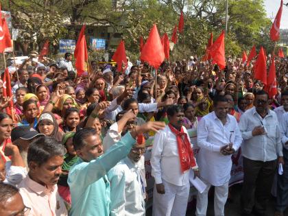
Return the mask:
M185 215L189 197L189 173L199 169L186 128L182 106L167 109L169 125L154 138L151 166L155 179L153 193L154 216Z

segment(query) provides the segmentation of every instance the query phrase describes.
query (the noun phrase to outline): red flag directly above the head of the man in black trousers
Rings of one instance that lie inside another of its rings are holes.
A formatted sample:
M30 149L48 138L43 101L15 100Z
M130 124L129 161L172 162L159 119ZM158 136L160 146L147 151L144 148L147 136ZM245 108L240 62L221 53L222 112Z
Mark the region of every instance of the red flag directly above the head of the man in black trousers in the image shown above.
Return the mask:
M255 63L254 78L256 80L261 80L265 85L267 84L266 56L263 47L261 47Z

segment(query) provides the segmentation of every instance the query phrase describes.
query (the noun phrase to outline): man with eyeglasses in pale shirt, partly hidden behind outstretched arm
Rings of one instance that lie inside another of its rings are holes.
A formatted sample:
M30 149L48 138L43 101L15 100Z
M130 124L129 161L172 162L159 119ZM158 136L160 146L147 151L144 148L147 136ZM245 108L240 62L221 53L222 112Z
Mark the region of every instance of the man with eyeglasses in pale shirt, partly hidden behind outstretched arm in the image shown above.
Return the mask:
M110 215L145 215L144 180L141 177L141 156L145 152L143 135L126 158L108 172L110 181Z

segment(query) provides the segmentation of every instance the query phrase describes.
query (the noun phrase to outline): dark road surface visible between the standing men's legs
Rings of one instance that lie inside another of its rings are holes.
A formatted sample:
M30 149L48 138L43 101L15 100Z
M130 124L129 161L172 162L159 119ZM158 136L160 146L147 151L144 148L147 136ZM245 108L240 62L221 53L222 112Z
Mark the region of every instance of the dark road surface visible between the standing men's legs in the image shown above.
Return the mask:
M231 201L228 201L225 206L225 216L241 216L240 195L241 195L241 184L237 184L232 187ZM267 205L267 216L274 216L274 203L275 199L271 197ZM146 215L147 216L152 215L151 208L147 211ZM195 206L188 207L187 216L195 216ZM206 216L214 216L213 197L209 198L208 211ZM288 211L285 212L285 216L288 216Z

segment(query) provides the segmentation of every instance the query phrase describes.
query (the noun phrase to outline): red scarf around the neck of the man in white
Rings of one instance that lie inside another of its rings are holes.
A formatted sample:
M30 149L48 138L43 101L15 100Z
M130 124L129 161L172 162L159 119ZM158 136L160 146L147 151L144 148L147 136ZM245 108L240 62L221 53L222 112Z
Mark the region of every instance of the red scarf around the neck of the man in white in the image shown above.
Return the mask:
M181 130L179 131L176 130L171 123L169 123L169 128L176 136L181 171L184 173L191 167L195 167L197 165L193 154L193 149L191 148L188 136L184 132L183 127L181 127Z

